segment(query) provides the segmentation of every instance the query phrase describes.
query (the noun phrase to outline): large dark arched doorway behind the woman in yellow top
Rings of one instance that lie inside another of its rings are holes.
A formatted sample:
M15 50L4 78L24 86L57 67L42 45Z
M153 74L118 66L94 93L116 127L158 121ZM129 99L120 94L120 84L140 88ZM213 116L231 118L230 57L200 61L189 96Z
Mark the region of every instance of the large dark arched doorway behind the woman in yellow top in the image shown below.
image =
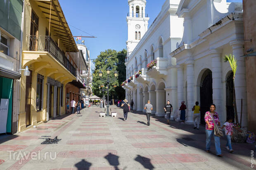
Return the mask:
M209 111L210 104L213 103L213 86L212 86L212 72L210 69L204 71L200 83L200 120L201 124L205 125L204 114Z

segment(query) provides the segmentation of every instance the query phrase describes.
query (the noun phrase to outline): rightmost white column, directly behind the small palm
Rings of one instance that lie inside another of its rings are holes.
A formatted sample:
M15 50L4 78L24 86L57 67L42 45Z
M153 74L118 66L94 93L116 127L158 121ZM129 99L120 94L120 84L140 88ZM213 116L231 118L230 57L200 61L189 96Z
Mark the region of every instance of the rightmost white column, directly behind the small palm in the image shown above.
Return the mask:
M237 103L237 114L240 122L241 99L243 99L242 126L247 126L247 91L245 81L244 40L233 40L230 42L233 55L237 59L237 72L235 74L235 94Z

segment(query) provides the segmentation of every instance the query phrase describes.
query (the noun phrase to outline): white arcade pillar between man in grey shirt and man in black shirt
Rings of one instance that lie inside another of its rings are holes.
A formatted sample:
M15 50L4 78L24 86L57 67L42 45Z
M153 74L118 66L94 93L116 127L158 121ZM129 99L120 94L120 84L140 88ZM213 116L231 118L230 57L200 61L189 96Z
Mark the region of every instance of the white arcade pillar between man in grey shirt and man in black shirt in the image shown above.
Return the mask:
M155 90L156 91L156 116L164 116L164 90Z

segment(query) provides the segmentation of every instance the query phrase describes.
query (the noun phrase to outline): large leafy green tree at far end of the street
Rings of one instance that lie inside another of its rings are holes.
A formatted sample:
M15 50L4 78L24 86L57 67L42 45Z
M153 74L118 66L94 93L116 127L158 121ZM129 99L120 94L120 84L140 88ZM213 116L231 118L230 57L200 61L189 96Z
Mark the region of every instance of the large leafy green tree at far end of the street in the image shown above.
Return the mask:
M107 86L107 80L100 80L99 72L102 71L102 78L107 78L107 68L110 68L109 78L114 79L114 72L118 71L119 76L117 79L113 81L110 80L109 83L109 99L112 99L112 95L114 99L124 99L125 98L125 90L120 87L120 84L126 78L126 66L125 66L125 58L126 58L126 50L117 52L116 50L105 50L104 52L100 52L100 55L97 56L97 59L94 60L95 69L92 73L92 91L95 95L102 97L102 92L99 90L100 85ZM117 87L113 87L116 85ZM105 94L107 94L105 92Z

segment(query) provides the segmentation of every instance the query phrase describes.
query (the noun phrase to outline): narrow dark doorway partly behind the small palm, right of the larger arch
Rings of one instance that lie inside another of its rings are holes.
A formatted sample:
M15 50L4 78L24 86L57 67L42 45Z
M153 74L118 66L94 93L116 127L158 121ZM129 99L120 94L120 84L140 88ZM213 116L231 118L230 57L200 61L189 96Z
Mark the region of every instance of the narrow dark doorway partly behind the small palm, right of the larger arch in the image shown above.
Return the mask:
M233 72L229 74L226 80L226 110L227 110L227 118L231 117L233 122L235 122L235 111L233 106Z

